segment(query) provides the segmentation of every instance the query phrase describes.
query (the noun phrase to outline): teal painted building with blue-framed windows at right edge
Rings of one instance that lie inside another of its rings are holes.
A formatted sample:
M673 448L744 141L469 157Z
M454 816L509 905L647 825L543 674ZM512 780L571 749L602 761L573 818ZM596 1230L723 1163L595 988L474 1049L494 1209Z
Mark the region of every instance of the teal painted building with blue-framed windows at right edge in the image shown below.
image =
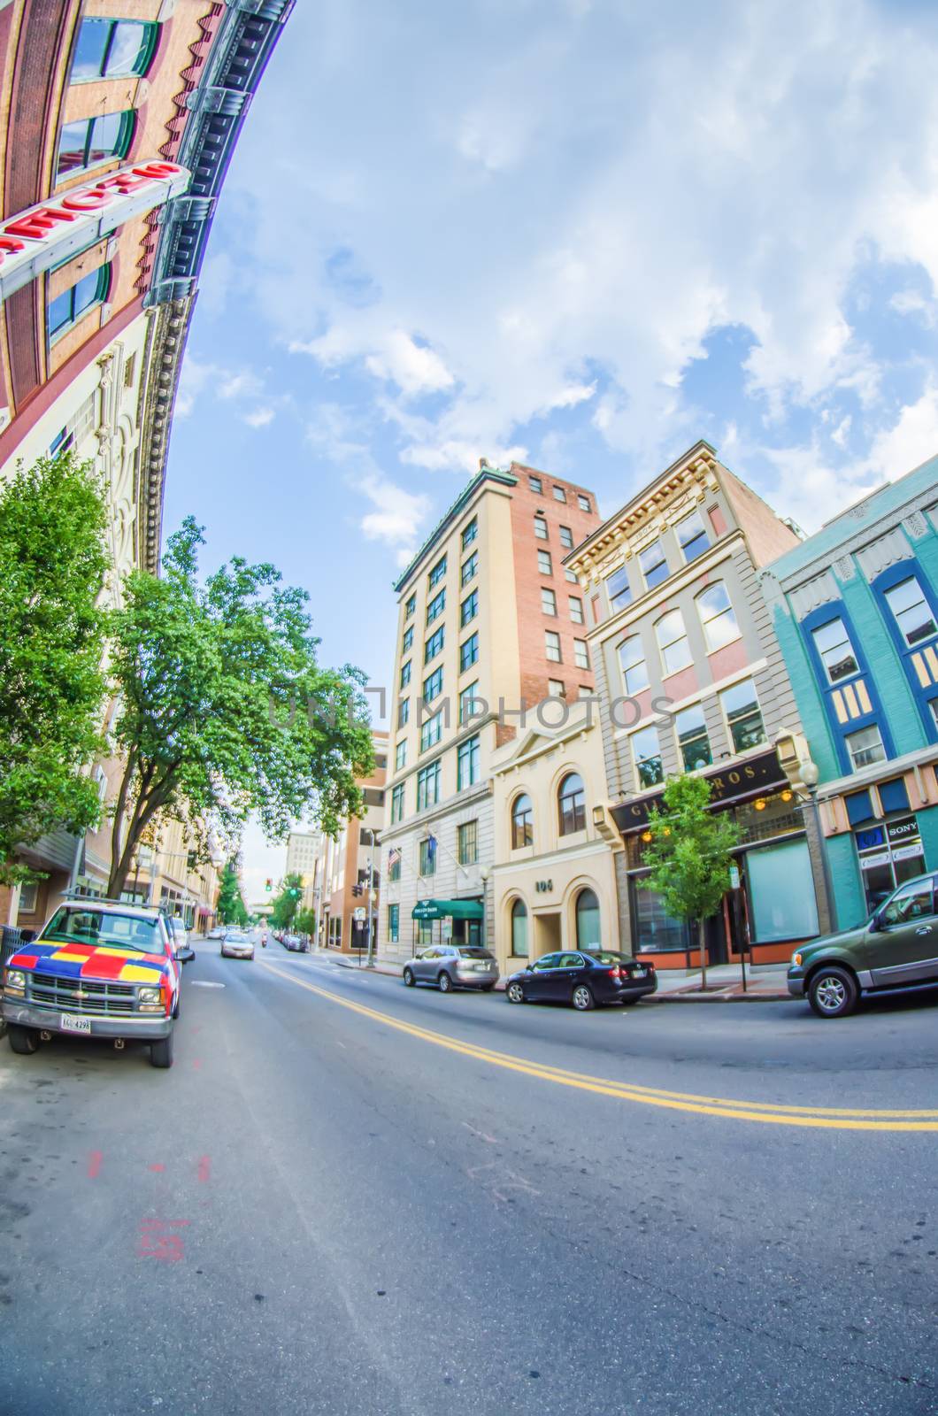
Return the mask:
M938 869L938 457L835 517L761 583L847 929Z

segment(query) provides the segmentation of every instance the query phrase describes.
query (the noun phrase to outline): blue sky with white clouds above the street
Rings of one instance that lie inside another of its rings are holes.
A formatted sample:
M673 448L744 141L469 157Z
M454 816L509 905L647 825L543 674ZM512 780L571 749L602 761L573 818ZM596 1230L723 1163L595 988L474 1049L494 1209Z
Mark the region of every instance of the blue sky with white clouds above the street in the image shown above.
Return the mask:
M938 450L937 72L917 0L298 0L166 528L273 559L374 683L395 571L480 456L608 514L706 438L815 530Z

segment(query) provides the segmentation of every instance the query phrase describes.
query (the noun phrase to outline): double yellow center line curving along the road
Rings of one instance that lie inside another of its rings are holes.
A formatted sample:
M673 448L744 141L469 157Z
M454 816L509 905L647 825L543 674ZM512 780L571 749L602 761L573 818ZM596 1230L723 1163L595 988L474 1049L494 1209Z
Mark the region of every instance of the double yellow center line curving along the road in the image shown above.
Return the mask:
M614 1082L606 1078L589 1076L584 1072L571 1072L567 1068L551 1066L546 1062L530 1062L527 1058L514 1056L510 1052L496 1052L492 1048L482 1048L475 1042L460 1042L445 1032L434 1032L429 1028L419 1028L415 1024L404 1022L388 1012L378 1012L351 998L343 998L329 988L298 978L296 974L283 973L275 964L264 963L264 967L288 983L316 993L330 1003L358 1012L384 1027L395 1028L409 1037L421 1038L449 1052L459 1052L463 1056L475 1058L479 1062L489 1062L492 1066L506 1068L510 1072L520 1072L524 1076L534 1076L543 1082L555 1082L560 1086L577 1087L582 1092L595 1092L599 1096L615 1096L625 1102L636 1102L643 1106L659 1106L673 1112L693 1112L699 1116L723 1116L738 1121L762 1121L769 1126L802 1126L816 1130L852 1130L852 1131L938 1131L938 1110L852 1110L846 1107L826 1106L785 1106L775 1102L741 1102L723 1096L697 1096L693 1092L667 1092L663 1087L639 1086L632 1082Z

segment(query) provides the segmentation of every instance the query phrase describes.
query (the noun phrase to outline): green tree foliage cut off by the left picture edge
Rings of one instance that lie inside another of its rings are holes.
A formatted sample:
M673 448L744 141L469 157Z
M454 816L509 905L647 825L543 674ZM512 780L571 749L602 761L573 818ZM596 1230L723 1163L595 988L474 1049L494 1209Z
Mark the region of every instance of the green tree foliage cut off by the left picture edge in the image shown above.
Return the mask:
M88 463L40 457L0 486L0 878L18 845L101 816L106 503Z

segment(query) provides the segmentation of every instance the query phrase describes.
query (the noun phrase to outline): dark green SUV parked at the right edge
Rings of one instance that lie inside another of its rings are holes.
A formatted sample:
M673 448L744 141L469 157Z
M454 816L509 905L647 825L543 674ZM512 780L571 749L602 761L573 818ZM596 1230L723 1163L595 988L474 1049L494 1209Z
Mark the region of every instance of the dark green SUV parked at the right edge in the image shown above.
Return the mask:
M864 925L823 935L792 954L788 991L819 1018L844 1018L861 995L938 984L938 877L894 891Z

